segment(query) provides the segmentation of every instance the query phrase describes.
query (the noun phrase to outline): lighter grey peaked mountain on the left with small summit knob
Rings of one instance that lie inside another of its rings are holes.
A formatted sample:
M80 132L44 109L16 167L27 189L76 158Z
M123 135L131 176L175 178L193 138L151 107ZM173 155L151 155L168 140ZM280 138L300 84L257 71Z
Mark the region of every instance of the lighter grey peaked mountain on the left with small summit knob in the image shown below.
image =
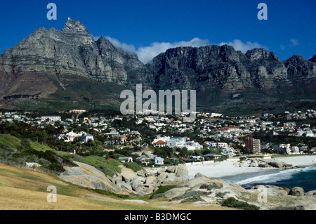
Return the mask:
M153 84L152 74L136 54L121 51L104 37L94 41L81 22L70 19L61 31L39 28L6 49L0 58L0 79L0 96L5 100L20 96L41 99L52 94L58 100L60 91L65 91L72 93L72 100L90 95L91 99L103 100L103 104L112 104L113 95L106 93L135 88L136 83ZM78 88L79 82L86 86ZM107 89L109 85L112 89ZM91 94L96 91L100 94Z

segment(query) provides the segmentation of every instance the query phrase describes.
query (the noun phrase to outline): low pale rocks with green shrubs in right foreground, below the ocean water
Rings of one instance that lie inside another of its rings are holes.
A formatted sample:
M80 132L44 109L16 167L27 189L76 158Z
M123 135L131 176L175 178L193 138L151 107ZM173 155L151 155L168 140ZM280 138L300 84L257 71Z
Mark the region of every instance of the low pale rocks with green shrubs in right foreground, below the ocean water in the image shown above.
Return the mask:
M300 187L294 187L291 191L297 192ZM223 180L211 180L206 177L196 177L178 185L159 195L175 202L204 202L222 204L223 200L233 197L240 202L246 202L258 206L263 210L270 209L303 209L315 210L316 197L314 191L309 194L291 195L285 187L273 185L257 185L246 190L243 187Z

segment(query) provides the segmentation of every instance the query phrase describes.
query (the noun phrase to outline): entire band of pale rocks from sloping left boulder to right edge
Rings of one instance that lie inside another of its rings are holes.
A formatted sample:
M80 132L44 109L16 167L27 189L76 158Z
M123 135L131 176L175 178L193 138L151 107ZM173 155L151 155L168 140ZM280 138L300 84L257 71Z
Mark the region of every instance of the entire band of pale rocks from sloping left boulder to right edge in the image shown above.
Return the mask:
M305 193L301 187L293 187L290 190L273 185L257 185L245 189L236 183L213 180L200 173L197 173L195 178L189 179L185 165L168 166L157 172L146 169L134 172L122 167L121 173L107 177L93 166L75 163L77 167L65 167L66 171L60 174L62 180L119 195L150 195L159 187L172 185L171 190L154 195L152 199L164 197L175 202L206 202L220 205L223 200L233 197L259 206L261 209L316 208L315 190ZM180 173L183 176L180 176ZM265 201L261 200L262 197Z

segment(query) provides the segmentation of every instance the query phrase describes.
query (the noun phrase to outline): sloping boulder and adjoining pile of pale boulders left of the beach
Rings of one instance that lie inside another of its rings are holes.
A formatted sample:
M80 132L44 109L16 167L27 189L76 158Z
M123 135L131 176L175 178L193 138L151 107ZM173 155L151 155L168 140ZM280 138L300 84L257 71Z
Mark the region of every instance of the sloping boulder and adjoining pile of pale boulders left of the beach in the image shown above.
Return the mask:
M62 180L91 189L107 190L119 195L147 195L164 185L179 185L189 180L185 165L168 166L156 173L146 170L134 172L132 169L122 167L121 173L110 177L88 164L74 163L78 166L65 166L66 171L60 174Z

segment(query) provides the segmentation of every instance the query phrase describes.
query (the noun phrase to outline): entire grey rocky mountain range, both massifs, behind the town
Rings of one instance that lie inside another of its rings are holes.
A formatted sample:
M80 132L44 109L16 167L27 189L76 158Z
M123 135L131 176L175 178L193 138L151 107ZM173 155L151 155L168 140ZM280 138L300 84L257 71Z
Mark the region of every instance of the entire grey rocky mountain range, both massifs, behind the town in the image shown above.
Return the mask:
M199 110L266 110L315 102L315 79L316 55L282 61L264 48L242 53L228 45L170 48L145 65L68 19L61 31L41 27L0 55L0 108L118 109L119 93L143 84L195 89Z

